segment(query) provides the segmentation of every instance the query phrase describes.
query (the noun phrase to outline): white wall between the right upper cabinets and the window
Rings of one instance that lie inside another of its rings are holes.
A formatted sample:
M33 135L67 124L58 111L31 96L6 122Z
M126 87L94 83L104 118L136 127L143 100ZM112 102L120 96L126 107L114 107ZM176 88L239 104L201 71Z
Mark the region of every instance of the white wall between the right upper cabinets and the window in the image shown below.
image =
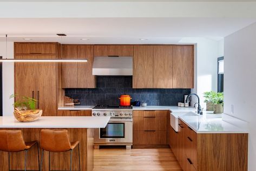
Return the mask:
M196 43L195 54L195 87L193 93L197 93L201 100L201 106L206 109L204 102L205 91L217 90L217 59L221 53L221 41L202 37L182 38L179 43Z

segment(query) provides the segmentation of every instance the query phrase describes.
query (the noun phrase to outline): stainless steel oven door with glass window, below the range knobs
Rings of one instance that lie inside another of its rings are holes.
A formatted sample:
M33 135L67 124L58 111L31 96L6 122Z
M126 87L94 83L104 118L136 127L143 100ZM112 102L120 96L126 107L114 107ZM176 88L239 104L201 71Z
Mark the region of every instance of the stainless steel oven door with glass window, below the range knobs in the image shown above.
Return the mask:
M133 143L133 119L110 119L94 131L94 143Z

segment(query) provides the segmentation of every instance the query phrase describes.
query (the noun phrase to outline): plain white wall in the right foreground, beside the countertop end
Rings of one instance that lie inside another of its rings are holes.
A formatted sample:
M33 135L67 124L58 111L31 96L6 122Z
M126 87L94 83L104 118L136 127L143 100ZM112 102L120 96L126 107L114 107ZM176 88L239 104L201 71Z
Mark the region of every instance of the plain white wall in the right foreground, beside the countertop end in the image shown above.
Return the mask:
M224 113L249 122L248 170L250 171L256 170L255 46L256 23L225 37L224 40Z

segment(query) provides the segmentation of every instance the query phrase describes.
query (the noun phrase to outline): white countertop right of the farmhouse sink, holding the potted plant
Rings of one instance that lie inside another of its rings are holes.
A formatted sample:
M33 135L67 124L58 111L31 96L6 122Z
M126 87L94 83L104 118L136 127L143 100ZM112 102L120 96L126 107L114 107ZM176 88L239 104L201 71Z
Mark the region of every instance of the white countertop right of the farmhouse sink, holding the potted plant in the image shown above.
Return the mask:
M188 113L178 117L196 133L248 133L245 121L226 114L193 115ZM227 118L233 121L227 122Z

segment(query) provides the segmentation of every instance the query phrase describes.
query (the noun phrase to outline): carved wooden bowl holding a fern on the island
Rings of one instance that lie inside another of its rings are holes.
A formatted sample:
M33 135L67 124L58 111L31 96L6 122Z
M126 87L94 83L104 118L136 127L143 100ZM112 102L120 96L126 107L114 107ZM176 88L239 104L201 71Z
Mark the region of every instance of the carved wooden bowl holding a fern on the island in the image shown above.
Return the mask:
M39 119L43 114L43 110L18 110L15 108L14 116L19 122L33 122Z

